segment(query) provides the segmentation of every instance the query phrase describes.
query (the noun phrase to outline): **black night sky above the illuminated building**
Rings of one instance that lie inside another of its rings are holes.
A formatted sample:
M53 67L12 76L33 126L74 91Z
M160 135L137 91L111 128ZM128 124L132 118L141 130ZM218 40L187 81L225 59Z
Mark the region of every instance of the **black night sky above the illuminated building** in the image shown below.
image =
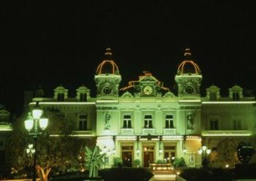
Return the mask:
M256 90L253 1L1 1L0 103L20 112L23 91L48 96L84 84L111 47L121 87L148 70L173 88L185 47L203 74L227 95L235 83Z

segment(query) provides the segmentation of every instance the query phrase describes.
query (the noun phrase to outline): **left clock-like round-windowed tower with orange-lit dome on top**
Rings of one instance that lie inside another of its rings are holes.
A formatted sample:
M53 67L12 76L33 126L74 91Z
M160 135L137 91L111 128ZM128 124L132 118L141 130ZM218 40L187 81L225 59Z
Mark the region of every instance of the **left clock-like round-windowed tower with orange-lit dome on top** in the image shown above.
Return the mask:
M106 49L105 59L97 67L94 80L97 87L97 98L116 99L118 97L121 75L118 66L113 61L110 48Z

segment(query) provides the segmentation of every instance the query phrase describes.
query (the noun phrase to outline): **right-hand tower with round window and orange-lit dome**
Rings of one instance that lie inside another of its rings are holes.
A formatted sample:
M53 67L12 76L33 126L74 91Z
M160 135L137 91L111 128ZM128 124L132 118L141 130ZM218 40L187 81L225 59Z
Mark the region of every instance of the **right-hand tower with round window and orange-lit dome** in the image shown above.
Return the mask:
M175 81L178 84L178 96L184 99L193 99L200 96L202 75L199 66L191 58L189 48L185 49L184 61L178 66Z

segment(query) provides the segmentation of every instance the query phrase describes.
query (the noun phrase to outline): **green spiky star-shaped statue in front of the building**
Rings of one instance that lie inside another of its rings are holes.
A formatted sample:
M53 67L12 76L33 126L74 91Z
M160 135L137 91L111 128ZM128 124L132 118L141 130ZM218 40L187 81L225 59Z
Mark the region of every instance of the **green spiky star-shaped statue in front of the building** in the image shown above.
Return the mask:
M105 153L102 155L99 153L99 147L94 147L92 152L89 147L86 147L86 167L89 170L89 177L99 177L98 169L104 164L102 158L105 156Z

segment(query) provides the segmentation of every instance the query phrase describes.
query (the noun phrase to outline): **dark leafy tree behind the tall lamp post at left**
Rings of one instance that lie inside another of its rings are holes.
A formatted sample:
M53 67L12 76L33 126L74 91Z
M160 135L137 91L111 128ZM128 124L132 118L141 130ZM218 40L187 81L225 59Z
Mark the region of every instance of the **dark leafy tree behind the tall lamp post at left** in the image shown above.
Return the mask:
M75 124L65 119L59 110L45 109L45 113L49 119L48 128L37 139L37 169L39 173L45 177L42 174L49 174L50 168L53 174L69 172L71 168L78 168L80 147L93 145L94 140L87 139L85 141L70 136L72 130L75 130ZM15 120L7 150L10 152L12 167L29 175L33 170L33 159L26 155L25 150L29 144L34 143L34 140L24 127L25 119L26 115L21 115ZM46 171L42 168L45 168Z

